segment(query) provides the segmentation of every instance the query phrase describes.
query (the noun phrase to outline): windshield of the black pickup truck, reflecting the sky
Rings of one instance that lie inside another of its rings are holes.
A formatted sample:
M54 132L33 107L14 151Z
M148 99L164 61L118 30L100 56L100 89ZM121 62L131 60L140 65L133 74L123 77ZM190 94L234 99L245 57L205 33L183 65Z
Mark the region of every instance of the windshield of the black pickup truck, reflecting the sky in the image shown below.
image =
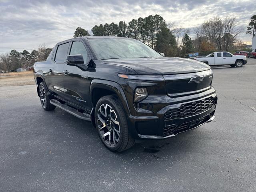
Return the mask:
M98 59L162 57L146 44L128 38L88 39Z

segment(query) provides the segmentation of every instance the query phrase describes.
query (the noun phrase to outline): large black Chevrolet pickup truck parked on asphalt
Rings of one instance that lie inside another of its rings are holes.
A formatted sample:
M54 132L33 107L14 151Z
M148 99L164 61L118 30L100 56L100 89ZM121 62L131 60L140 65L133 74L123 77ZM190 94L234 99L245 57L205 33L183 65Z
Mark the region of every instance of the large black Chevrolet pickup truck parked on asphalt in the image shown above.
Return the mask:
M57 106L96 127L114 152L135 139L164 139L194 129L215 116L217 96L210 66L163 57L146 44L106 36L56 44L34 64L44 110Z

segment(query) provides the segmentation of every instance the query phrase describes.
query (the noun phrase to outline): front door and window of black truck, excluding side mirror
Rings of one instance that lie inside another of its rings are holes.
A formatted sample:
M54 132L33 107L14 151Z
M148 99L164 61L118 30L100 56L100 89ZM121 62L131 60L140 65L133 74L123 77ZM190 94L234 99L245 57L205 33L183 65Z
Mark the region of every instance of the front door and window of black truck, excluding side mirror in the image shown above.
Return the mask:
M90 57L86 50L85 44L80 40L74 40L71 42L71 48L68 55L83 56L84 64L88 64ZM84 71L77 66L70 66L65 64L64 71L64 84L66 92L66 97L69 102L81 106L90 110L90 81L88 80L88 71ZM88 103L89 102L89 103Z

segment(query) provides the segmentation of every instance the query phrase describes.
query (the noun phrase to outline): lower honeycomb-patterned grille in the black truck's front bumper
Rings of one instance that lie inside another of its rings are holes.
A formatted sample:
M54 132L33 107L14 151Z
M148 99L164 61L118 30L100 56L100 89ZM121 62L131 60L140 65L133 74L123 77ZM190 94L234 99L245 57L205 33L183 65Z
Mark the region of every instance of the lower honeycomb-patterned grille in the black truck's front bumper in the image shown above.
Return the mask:
M217 103L217 98L208 97L199 101L182 104L180 108L168 110L164 118L165 120L171 120L176 118L184 118L192 115L196 115L210 109Z

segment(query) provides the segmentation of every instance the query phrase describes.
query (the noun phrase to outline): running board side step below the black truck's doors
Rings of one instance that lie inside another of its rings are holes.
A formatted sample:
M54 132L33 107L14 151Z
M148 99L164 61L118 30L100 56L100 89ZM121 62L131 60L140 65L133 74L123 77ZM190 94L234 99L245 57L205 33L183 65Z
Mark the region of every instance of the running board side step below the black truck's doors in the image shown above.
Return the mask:
M61 104L60 102L58 102L57 100L55 99L51 99L50 100L50 104L80 118L80 119L83 119L83 120L86 120L86 121L91 121L91 117L89 114L86 114L86 113L81 113L79 112L78 110L70 107L70 106L67 106L67 105L64 105L64 104Z

